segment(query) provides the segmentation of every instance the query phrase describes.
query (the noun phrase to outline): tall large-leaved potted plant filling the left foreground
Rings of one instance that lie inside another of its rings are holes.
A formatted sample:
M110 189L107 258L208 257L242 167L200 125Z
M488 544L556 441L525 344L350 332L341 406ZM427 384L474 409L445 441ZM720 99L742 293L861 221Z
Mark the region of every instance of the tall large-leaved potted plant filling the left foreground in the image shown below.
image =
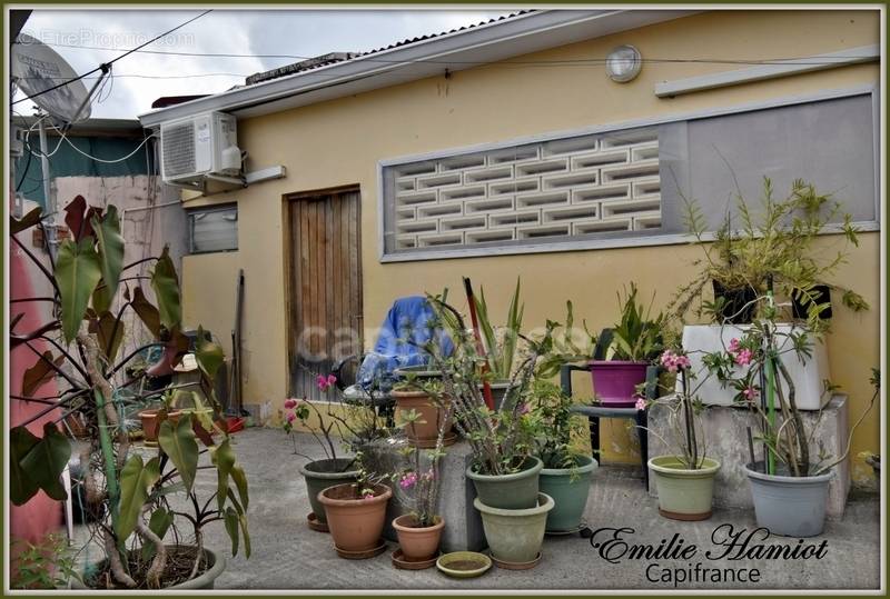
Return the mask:
M125 371L129 360L148 347L161 347L161 360L139 376L164 375L172 371L188 350L174 262L165 248L160 257L125 263L125 241L113 206L88 208L86 200L77 197L66 212L72 238L63 239L55 256L50 252L49 268L16 237L31 227L43 227L40 210L10 223L12 242L52 286L52 298L23 301L51 301L53 315L50 322L32 331L17 330L13 318L10 331L11 348L29 349L36 356L34 365L24 373L23 396L13 399L46 405L10 430L10 499L21 506L41 489L53 499L66 498L60 476L68 466L71 446L57 422L77 413L88 433L80 456L86 510L91 515L87 526L90 538L99 540L106 553L103 560L88 566L86 587L212 588L225 568L225 558L205 547L205 526L225 522L233 555L241 548L250 555L247 476L228 435L219 431L218 442L209 435L199 438L192 418L199 419L205 430L212 429L214 421L206 413L187 413L176 426L170 420L161 422L159 448L152 456L132 451L121 426L121 411L128 403L138 406L164 392L120 392L139 382L120 382L118 373ZM148 276L129 273L149 263L152 268ZM140 287L142 280L149 280L155 302ZM121 358L125 317L130 311L154 340ZM201 377L188 386L199 388L218 413L212 380L224 353L200 328L198 333L195 355ZM51 349L41 352L37 349L40 342ZM41 383L53 377L65 381L65 390L58 397L33 397ZM28 428L39 419L49 420L42 438ZM201 456L209 458L209 463L199 467ZM199 468L217 475L217 490L207 499L198 497L195 485ZM175 492L185 495L190 512L179 502L174 505L170 498Z

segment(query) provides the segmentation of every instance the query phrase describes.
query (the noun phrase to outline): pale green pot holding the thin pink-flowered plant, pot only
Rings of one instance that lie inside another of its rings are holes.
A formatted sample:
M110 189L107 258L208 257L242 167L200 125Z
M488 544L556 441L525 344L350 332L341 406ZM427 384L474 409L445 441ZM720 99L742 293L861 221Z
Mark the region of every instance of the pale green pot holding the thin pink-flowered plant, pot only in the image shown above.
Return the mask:
M659 513L671 520L706 520L714 499L714 477L720 462L704 458L698 470L688 470L676 456L649 460L659 493Z

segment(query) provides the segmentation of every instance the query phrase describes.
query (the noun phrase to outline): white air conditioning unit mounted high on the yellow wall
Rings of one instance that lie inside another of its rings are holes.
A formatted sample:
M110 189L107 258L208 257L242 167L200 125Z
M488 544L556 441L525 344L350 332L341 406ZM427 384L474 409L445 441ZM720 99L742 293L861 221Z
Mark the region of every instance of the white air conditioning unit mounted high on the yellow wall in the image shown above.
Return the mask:
M205 112L160 126L161 178L165 183L199 187L209 177L239 177L237 120Z

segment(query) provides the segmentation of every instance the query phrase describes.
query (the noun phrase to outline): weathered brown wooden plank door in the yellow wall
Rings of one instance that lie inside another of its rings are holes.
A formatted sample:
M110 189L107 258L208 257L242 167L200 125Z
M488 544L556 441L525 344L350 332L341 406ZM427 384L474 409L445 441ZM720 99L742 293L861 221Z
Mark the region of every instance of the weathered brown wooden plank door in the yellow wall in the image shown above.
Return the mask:
M288 200L290 396L325 399L317 377L362 350L359 193L349 188Z

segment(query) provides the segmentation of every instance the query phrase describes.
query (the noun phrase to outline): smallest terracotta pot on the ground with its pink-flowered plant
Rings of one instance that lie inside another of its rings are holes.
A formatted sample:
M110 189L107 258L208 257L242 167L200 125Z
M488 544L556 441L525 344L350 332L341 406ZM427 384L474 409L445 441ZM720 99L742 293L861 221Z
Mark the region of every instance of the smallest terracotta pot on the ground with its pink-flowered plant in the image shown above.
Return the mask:
M451 409L447 409L451 412ZM406 431L414 428L423 419L416 411L403 415L402 428ZM414 562L414 565L432 567L438 553L445 520L436 511L438 501L438 462L444 456L446 422L451 413L438 425L435 449L422 451L421 448L405 448L409 466L393 473L396 482L395 496L408 513L393 520L393 528L398 538L400 555L394 561ZM451 425L447 425L451 428ZM411 566L411 563L409 563ZM414 567L418 567L414 566Z

